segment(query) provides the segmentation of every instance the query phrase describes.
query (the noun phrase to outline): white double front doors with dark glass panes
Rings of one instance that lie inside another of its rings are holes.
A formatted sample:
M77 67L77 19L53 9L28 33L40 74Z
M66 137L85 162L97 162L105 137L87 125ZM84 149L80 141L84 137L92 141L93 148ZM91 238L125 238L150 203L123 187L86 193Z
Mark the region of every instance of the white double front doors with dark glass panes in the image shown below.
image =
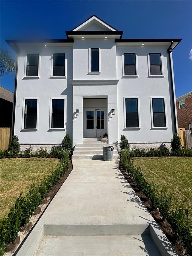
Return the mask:
M107 133L105 109L84 109L84 137L100 137Z

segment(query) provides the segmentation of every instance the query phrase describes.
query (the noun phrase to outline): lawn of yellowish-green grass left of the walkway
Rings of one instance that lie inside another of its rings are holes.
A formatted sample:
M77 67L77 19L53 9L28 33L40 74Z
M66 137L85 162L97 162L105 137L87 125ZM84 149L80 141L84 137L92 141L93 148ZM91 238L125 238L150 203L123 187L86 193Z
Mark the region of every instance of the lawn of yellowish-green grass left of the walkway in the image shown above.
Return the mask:
M32 182L40 182L56 167L59 159L11 158L0 160L0 218L9 213L11 206Z

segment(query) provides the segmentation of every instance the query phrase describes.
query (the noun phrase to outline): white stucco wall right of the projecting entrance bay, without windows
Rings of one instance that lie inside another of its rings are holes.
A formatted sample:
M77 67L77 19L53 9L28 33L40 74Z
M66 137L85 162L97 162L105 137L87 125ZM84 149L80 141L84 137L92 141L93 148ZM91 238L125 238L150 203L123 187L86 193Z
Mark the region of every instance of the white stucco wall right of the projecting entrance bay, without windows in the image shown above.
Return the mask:
M120 135L124 134L131 143L144 142L170 142L174 133L174 118L172 105L171 80L169 70L169 56L167 49L154 47L117 47L117 78L118 83L118 129ZM121 78L122 54L133 52L138 58L138 77ZM164 77L151 78L148 73L148 57L151 52L161 53L163 60ZM152 128L150 97L165 97L166 99L166 126L165 128ZM124 127L123 97L139 97L140 102L140 129Z

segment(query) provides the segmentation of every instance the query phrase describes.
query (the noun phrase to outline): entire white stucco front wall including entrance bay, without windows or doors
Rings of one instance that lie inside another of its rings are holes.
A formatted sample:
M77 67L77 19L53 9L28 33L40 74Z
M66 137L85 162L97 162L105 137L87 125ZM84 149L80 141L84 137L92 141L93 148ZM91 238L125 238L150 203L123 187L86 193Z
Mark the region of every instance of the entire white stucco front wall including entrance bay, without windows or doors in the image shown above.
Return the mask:
M100 48L100 74L89 74L89 48ZM138 60L138 77L122 78L122 54L134 52ZM150 52L161 53L163 59L163 78L149 78L148 57ZM25 55L39 53L40 78L23 79ZM53 53L65 53L67 77L50 79L51 56ZM117 85L72 85L70 80L115 80ZM152 128L150 97L166 99L166 123L168 128ZM22 129L23 98L39 98L39 121L37 131ZM66 97L66 129L50 130L50 98ZM25 145L53 145L61 143L68 133L73 138L73 146L83 141L83 97L107 98L109 143L120 141L124 134L133 147L139 145L159 145L170 143L174 133L172 92L167 47L120 47L114 40L75 40L73 47L47 47L25 49L19 54L17 94L15 110L15 130L22 147ZM140 129L124 127L124 97L139 97ZM75 110L79 109L76 117ZM115 115L111 116L111 109ZM145 144L143 144L145 143ZM148 144L147 144L148 143ZM151 144L150 144L151 143ZM49 148L49 146L47 146Z

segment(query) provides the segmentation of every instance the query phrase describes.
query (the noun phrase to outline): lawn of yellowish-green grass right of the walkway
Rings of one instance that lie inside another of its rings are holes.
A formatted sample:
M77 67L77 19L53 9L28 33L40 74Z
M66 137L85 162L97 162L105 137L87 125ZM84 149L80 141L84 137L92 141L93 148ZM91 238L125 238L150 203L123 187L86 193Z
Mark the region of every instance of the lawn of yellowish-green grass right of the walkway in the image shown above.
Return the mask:
M192 157L135 157L146 180L156 184L157 191L172 194L173 205L192 207Z

